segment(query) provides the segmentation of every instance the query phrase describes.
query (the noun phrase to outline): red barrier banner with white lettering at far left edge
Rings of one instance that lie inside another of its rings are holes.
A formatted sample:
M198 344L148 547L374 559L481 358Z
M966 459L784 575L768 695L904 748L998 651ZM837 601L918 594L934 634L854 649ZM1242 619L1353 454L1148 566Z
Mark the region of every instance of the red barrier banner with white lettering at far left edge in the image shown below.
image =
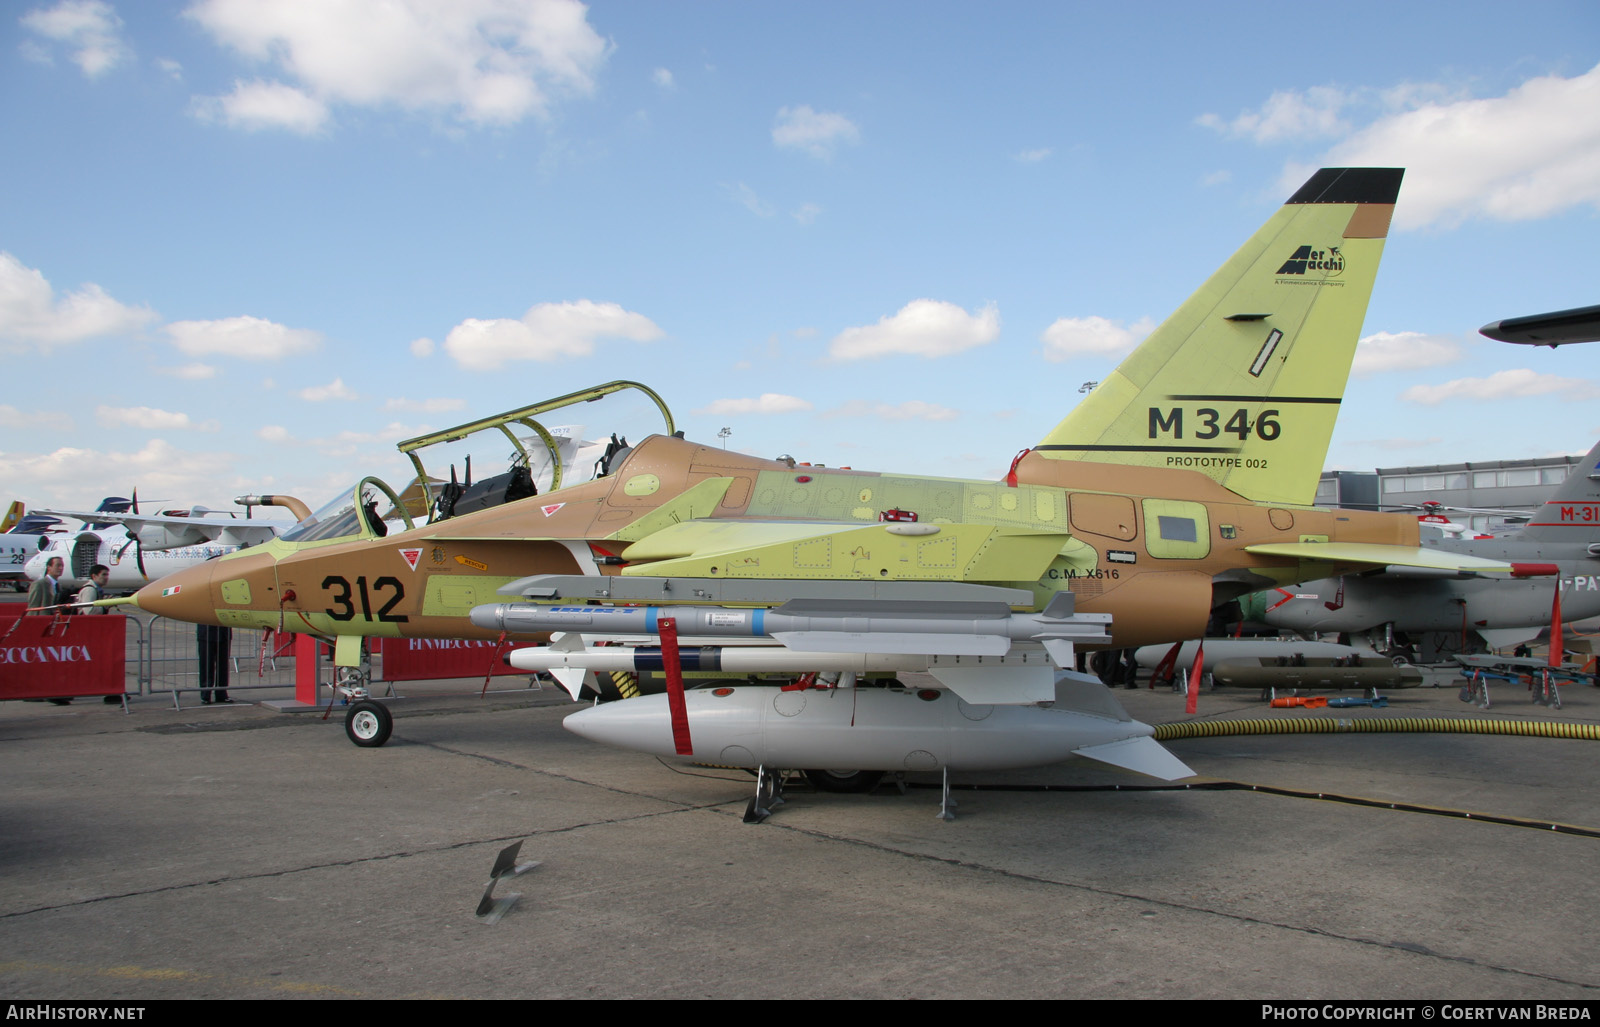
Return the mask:
M0 699L120 696L128 617L0 619Z

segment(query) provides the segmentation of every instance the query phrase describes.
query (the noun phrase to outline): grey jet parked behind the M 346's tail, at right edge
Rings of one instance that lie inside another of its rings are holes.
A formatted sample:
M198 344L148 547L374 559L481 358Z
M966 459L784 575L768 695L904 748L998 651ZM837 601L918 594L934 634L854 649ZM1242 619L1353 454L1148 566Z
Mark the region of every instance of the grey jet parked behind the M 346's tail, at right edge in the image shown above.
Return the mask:
M1422 545L1437 552L1515 565L1525 581L1470 571L1378 568L1285 585L1240 601L1246 621L1296 632L1368 635L1370 645L1395 649L1395 633L1424 632L1461 638L1477 633L1490 648L1533 638L1550 624L1555 589L1562 616L1600 616L1600 443L1560 490L1515 534L1450 539L1422 525ZM1554 579L1554 581L1552 581Z

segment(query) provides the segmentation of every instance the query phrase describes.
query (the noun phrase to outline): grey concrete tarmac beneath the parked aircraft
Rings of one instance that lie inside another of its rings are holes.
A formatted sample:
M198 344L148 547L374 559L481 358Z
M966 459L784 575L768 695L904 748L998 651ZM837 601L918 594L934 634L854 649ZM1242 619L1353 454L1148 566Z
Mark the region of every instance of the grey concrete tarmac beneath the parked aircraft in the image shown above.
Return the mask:
M906 793L752 779L562 729L558 689L427 683L382 749L342 715L0 704L0 990L16 998L1595 998L1600 837L1248 790L1086 760ZM499 685L498 685L499 686ZM1600 723L1494 689L1200 718ZM429 694L424 694L429 693ZM1182 696L1118 689L1149 723ZM262 693L235 693L262 699ZM192 699L192 696L190 696ZM1170 747L1205 781L1600 829L1600 742L1248 736ZM533 872L474 920L496 853Z

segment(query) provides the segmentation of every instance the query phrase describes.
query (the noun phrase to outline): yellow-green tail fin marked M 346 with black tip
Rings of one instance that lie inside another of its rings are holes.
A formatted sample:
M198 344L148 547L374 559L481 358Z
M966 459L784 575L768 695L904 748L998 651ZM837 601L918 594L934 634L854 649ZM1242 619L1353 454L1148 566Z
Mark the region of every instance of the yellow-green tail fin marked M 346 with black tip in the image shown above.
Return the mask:
M1045 458L1187 467L1310 504L1402 168L1323 168L1099 382Z

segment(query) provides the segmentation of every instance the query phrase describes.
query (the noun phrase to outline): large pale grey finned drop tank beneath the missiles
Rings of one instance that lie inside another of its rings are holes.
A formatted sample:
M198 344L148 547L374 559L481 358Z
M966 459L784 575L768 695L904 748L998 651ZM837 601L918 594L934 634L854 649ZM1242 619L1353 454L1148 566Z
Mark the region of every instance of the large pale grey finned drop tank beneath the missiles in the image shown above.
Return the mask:
M907 688L784 691L746 685L685 696L691 758L746 768L872 771L1018 769L1074 755L1163 781L1190 771L1128 717L1096 678L1064 672L1053 705L971 705L955 694ZM666 696L587 707L565 720L582 737L674 758Z

